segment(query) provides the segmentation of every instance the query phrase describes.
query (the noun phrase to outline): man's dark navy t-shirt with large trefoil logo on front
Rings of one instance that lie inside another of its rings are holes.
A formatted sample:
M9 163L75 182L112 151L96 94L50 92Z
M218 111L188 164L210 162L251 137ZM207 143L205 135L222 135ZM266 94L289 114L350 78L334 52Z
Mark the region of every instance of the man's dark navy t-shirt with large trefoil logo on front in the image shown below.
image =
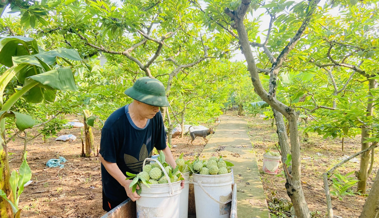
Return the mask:
M137 127L130 118L128 106L117 109L105 121L101 130L100 154L107 162L116 163L121 172L142 171L153 148L166 148L166 133L160 111L148 119L145 128ZM147 162L148 163L148 162ZM122 203L128 197L125 188L101 164L102 189L106 198Z

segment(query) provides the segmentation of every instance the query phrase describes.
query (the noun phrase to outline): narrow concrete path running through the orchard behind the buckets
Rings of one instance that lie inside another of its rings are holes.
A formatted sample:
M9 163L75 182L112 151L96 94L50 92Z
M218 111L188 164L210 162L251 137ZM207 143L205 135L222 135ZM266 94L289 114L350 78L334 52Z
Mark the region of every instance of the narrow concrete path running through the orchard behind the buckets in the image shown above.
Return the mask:
M234 182L237 184L238 218L267 218L266 197L258 171L257 160L247 134L247 121L222 115L221 122L200 154L200 159L223 155L234 164Z

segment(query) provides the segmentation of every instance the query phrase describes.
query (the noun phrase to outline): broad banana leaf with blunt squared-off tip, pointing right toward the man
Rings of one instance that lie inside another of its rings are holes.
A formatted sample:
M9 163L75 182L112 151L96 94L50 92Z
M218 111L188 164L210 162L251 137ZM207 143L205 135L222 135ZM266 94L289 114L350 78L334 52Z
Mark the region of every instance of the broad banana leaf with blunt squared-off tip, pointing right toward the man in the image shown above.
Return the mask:
M28 80L37 81L43 85L49 86L58 90L77 91L74 76L70 67L51 70L42 74L34 75L26 78L25 85Z

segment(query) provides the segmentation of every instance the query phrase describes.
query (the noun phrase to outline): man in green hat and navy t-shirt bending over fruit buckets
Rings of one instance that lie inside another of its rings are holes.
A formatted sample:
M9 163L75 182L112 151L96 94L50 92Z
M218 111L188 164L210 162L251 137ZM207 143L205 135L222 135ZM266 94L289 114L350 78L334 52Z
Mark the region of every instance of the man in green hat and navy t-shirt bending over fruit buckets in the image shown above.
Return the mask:
M166 145L166 133L159 107L169 105L164 85L151 77L139 78L125 94L133 102L117 109L105 121L101 130L100 161L103 209L110 211L126 199L140 196L129 188L126 172L142 171L153 148L164 152L173 168L175 160ZM182 185L184 182L182 182Z

